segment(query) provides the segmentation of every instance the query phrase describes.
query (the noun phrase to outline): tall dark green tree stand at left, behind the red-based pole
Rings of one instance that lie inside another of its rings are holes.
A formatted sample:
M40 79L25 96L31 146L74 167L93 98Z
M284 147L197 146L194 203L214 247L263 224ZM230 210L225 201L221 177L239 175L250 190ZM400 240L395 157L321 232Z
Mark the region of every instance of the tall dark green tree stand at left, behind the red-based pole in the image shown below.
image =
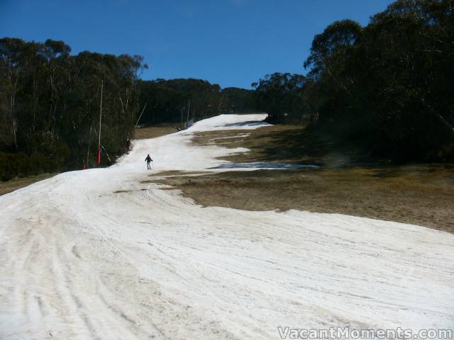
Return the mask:
M137 119L143 58L70 51L62 41L0 39L4 178L94 166L101 80L101 142L113 159L124 152ZM102 160L109 164L105 156Z

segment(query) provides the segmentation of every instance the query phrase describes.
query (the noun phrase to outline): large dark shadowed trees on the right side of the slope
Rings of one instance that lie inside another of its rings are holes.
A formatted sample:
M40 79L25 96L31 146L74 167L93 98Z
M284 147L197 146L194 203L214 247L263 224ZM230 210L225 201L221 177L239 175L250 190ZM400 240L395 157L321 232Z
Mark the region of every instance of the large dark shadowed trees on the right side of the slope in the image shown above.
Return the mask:
M399 0L316 35L301 74L253 84L274 123L309 123L399 161L454 160L454 4Z

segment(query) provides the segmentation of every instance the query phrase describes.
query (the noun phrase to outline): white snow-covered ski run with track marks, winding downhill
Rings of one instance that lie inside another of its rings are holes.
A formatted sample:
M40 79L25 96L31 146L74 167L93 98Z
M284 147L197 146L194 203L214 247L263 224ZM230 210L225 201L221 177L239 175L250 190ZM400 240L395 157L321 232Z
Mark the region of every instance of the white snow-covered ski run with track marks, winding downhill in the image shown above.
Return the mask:
M280 339L277 327L452 329L454 235L291 210L202 208L146 181L244 149L192 132L134 142L109 169L0 197L0 339ZM155 170L147 171L146 154ZM285 188L282 188L285 190Z

